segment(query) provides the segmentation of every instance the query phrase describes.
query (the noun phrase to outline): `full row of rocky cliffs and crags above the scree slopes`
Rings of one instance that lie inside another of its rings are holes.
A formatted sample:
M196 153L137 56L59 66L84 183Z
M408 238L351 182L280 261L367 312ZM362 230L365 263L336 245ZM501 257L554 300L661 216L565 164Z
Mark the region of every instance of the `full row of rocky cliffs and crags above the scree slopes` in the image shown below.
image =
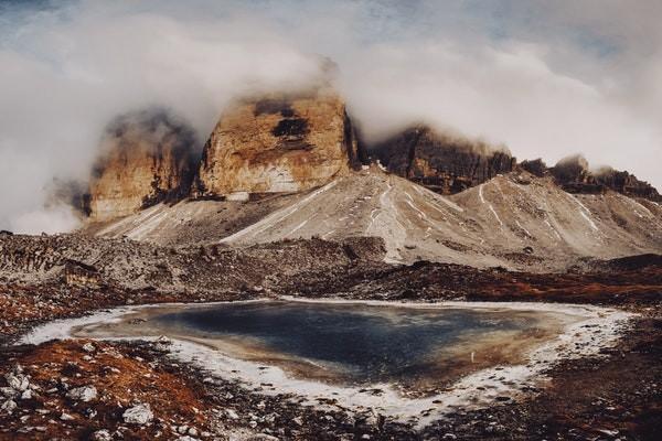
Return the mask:
M517 163L504 147L415 126L366 146L332 89L271 94L236 101L224 111L200 153L183 120L160 109L131 112L109 126L92 173L84 212L103 220L162 201L188 197L264 197L307 191L371 161L439 194L456 194L517 170L554 178L569 193L612 190L660 202L662 196L628 172L589 170L574 155L549 168Z

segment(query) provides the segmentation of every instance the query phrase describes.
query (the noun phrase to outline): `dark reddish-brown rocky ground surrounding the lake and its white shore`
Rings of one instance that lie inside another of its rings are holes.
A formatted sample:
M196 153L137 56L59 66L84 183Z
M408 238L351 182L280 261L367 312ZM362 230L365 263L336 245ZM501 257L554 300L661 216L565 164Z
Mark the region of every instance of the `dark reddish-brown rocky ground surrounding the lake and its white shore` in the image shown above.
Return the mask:
M380 244L371 240L286 241L218 252L177 249L174 255L147 245L136 245L132 254L124 248L114 254L114 248L132 246L118 240L95 241L105 257L88 268L82 258L88 243L77 240L2 241L0 439L647 440L662 427L660 256L579 261L569 272L541 275L426 261L389 266L381 260ZM49 247L56 251L47 258L35 252ZM34 256L49 261L47 268L43 263L35 269ZM259 263L254 261L257 256ZM132 272L122 276L115 259L129 259L129 267L130 259L142 261L142 279L136 281ZM214 271L222 268L223 275L212 289L196 277L207 275L203 262L214 261L222 262ZM185 266L193 269L183 277L178 269ZM180 275L175 289L160 288L159 268ZM423 431L377 415L325 411L301 406L297 397L261 396L174 363L167 355L168 341L12 345L39 323L102 308L282 294L598 303L642 316L618 347L600 357L560 363L544 387L526 391L526 399L458 412Z

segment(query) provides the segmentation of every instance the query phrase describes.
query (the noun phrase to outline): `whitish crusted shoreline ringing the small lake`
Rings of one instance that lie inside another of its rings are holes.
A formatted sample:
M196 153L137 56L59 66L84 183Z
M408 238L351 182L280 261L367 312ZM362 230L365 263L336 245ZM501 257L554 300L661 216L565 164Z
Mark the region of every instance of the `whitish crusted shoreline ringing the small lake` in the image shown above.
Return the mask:
M286 298L287 299L287 298ZM291 300L291 299L287 299ZM306 300L305 300L306 301ZM316 301L317 302L317 301ZM342 302L342 300L332 300ZM353 301L351 303L357 303ZM365 304L370 304L366 302ZM374 303L374 302L373 302ZM181 305L181 303L179 303ZM406 308L465 308L473 306L471 302L439 302L416 304L404 303ZM278 368L263 369L260 365L232 357L222 356L217 351L205 348L200 344L172 340L169 344L170 355L179 362L192 364L205 372L223 378L238 380L247 385L248 389L264 384L273 385L270 389L263 387L264 395L295 394L305 399L305 402L319 406L319 399L333 397L344 408L355 411L374 410L401 421L415 422L417 427L425 427L431 421L457 410L458 408L480 409L494 402L498 397L517 399L523 395L522 389L537 388L544 380L544 372L555 363L567 358L578 358L598 354L600 349L617 344L620 333L627 322L633 316L620 310L595 306L573 305L558 303L503 303L477 302L476 308L505 309L512 311L549 310L557 313L567 313L583 316L584 320L566 325L564 333L549 343L535 348L528 354L528 363L515 366L499 366L483 369L468 375L453 384L448 390L427 398L409 399L402 397L398 390L391 385L375 385L372 389L380 389L378 395L370 391L360 392L356 388L333 387L313 381L302 381L289 378ZM150 311L164 305L125 306L117 310L100 312L82 319L57 321L38 327L23 338L24 343L39 344L56 336L67 338L77 326L105 321L117 323L120 316L128 312L140 310ZM168 308L168 305L166 305ZM201 308L195 305L194 308ZM139 340L158 341L158 337L138 337ZM121 338L131 340L131 338ZM500 398L503 399L503 398ZM384 405L387 404L387 405ZM434 409L434 411L430 411Z

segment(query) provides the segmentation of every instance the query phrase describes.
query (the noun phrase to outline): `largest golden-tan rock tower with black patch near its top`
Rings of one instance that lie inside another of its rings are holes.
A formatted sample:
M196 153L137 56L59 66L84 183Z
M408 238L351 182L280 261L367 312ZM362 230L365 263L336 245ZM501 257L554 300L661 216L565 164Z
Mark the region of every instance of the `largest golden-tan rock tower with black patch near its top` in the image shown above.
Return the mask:
M342 99L320 89L244 99L207 140L193 193L297 192L348 174L359 148Z

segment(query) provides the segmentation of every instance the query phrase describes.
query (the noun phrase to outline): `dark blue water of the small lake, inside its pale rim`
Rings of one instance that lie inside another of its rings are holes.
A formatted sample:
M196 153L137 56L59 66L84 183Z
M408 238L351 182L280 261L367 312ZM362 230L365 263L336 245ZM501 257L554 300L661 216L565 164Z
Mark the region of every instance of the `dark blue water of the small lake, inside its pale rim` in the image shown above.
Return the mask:
M153 320L192 336L249 337L269 351L341 370L354 383L439 372L481 335L537 324L533 315L512 312L298 302L229 303Z

